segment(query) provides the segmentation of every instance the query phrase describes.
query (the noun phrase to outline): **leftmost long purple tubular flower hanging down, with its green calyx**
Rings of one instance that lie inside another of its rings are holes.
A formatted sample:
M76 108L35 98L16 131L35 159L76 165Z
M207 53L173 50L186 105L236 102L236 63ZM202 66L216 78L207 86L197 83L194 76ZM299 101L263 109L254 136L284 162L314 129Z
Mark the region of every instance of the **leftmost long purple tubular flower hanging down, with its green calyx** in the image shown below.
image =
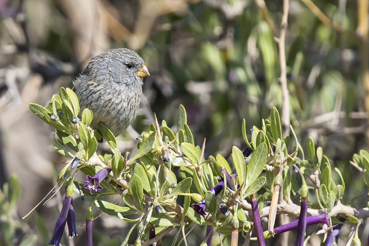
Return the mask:
M50 242L48 242L48 244L51 244L54 246L61 246L60 240L62 239L62 235L64 232L64 228L65 228L65 224L66 224L66 220L67 220L67 216L69 212L70 203L72 202L72 194L73 194L73 187L72 185L69 185L67 187L67 191L65 194L62 211L60 212L59 218L56 221L54 233L52 235Z

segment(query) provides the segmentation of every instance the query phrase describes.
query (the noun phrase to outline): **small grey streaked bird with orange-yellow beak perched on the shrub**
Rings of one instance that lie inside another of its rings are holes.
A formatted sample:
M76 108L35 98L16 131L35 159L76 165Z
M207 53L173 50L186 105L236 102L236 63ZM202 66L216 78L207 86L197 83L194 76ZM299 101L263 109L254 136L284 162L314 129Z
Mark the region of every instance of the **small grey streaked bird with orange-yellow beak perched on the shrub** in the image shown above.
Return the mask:
M99 131L101 122L114 136L127 129L136 116L145 76L150 73L144 60L130 49L110 49L92 58L72 88L80 112L93 112L90 127Z

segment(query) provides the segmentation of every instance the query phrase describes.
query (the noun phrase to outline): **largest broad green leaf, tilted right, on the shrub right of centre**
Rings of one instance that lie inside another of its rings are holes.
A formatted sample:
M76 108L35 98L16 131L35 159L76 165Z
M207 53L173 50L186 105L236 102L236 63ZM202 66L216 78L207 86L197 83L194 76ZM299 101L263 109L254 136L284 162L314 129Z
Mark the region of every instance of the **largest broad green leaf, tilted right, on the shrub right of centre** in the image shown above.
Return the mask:
M266 143L261 143L252 154L247 166L245 189L261 174L267 157Z

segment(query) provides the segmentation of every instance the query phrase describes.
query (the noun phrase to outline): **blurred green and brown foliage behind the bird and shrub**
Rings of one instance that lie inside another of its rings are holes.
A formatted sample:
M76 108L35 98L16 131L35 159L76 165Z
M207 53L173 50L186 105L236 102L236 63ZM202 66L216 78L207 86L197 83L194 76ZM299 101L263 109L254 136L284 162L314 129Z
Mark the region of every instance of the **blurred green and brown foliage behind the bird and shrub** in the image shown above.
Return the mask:
M349 160L368 149L362 2L290 0L286 35L291 124L300 142L312 136L323 147L352 189L344 200L359 207L366 188ZM137 51L151 74L132 127L118 138L122 152L134 154L135 137L148 131L153 112L175 127L179 104L196 144L207 139L205 156L229 158L233 145L244 148L242 119L246 129L261 127L273 106L282 107L276 38L282 8L282 0L0 0L0 187L18 174L22 195L14 218L54 186L55 168L63 166L57 163L65 161L52 147L52 129L28 104L46 105L61 86L72 86L90 58L110 48ZM106 143L99 149L109 151ZM37 209L44 221L34 213L16 238L41 234L38 243L44 243L57 199ZM99 221L104 233L95 234L97 245L124 238L127 224L104 216Z

